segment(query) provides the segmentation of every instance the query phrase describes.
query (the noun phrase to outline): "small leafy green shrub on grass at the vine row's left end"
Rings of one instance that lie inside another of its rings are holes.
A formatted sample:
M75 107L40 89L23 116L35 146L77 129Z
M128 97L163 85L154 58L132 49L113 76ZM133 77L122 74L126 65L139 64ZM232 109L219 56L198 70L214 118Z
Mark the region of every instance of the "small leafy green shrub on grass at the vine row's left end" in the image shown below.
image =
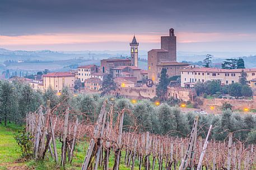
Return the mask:
M33 153L32 135L26 132L26 129L19 130L14 136L18 146L21 149L23 157L31 157Z

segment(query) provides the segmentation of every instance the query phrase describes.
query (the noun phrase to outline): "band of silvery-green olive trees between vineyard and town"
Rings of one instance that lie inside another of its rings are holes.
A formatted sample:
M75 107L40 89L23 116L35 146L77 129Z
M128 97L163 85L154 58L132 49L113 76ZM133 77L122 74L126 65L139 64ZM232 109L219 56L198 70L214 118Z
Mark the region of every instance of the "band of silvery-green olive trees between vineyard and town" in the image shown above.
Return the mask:
M224 140L229 132L236 132L235 138L239 140L256 140L256 120L252 115L234 114L230 110L223 111L222 115L199 115L195 113L182 113L176 106L170 103L154 105L150 100L141 100L132 103L130 99L117 99L112 96L100 96L89 94L74 95L68 88L64 88L61 95L57 95L52 89L45 93L34 91L28 84L20 82L0 82L0 117L1 123L24 123L26 113L35 111L40 105L46 105L50 100L50 108L62 103L70 105L80 114L79 119L87 119L96 122L101 105L108 99L107 107L114 106L115 111L126 109L124 114L125 130L136 127L140 132L155 134L169 134L179 137L187 137L190 133L195 116L199 116L199 135L205 137L210 124L213 124L212 138ZM246 130L244 130L246 129Z

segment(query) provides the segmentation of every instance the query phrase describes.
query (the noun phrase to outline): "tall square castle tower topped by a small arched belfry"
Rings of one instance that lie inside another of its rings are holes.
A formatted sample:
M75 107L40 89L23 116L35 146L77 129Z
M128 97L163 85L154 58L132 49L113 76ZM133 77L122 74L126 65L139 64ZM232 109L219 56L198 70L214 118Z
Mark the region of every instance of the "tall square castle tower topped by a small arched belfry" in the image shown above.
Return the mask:
M170 28L169 36L161 37L161 49L169 51L168 61L176 61L176 36L174 28Z

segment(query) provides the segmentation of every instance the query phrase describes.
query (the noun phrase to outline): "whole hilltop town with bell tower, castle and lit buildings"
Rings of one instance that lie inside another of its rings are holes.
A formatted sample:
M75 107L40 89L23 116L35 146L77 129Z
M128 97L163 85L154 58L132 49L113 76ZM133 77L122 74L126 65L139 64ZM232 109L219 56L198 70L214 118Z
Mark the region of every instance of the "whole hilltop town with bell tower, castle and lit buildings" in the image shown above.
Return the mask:
M176 104L183 105L183 108L189 107L208 112L211 112L213 108L215 111L220 111L225 102L232 103L233 109L236 110L250 108L252 111L256 108L253 100L256 89L256 68L245 69L244 63L240 69L220 69L193 65L189 62L178 62L176 36L173 28L170 28L169 36L161 36L160 44L160 49L148 51L147 70L139 67L139 42L137 42L136 36L133 36L129 43L130 57L103 59L100 61L100 65L79 65L77 69L66 72L45 71L45 74L41 72L41 74L35 75L34 79L13 76L10 81L27 82L34 90L42 92L51 88L59 95L64 87L68 87L76 94L105 94L131 100L151 99L159 103L163 100L175 100ZM211 59L211 55L209 56ZM166 71L168 82L165 85L164 93L159 96L159 94L157 95L157 86L161 81L163 70ZM199 84L210 81L218 82L220 88L239 83L242 73L246 75L245 79L252 89L252 94L234 96L223 93L222 90L217 90L215 93L207 93L206 90L199 93L197 90ZM112 89L106 87L111 86L110 81L114 83ZM203 94L207 96L203 98ZM201 99L199 99L200 96Z

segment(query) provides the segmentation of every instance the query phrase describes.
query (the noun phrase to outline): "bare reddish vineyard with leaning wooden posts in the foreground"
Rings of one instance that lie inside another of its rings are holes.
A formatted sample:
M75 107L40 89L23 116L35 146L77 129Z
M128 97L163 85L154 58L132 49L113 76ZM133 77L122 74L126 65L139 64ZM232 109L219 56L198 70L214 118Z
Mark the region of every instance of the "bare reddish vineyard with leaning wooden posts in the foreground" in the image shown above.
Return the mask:
M256 168L255 145L233 138L229 133L226 140L211 139L210 126L206 138L198 136L198 117L194 119L191 133L186 138L171 135L156 135L139 132L138 126L125 127L124 113L129 110L115 111L113 105L104 101L96 123L81 119L81 113L70 106L59 104L50 108L40 106L38 110L26 115L26 131L32 135L34 157L44 160L52 157L57 164L71 163L78 140L90 139L85 153L82 170L118 170L121 157L131 170L136 169L223 169L251 170ZM132 115L131 115L132 116ZM128 130L127 130L128 129ZM235 133L235 132L234 132ZM57 152L57 140L62 143L61 154ZM110 154L114 154L114 166L109 166ZM156 166L157 165L157 166Z

